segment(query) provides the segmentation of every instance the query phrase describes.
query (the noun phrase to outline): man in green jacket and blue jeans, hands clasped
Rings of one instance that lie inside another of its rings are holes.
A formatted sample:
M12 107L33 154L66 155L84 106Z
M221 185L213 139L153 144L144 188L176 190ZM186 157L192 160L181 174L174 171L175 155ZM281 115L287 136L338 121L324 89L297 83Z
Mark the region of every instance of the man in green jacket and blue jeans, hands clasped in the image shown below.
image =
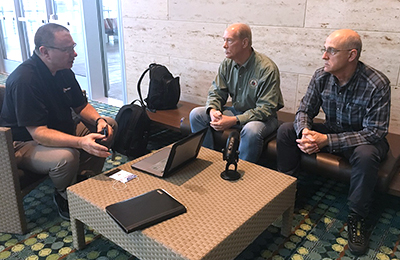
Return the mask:
M210 126L203 146L214 149L211 131L240 130L239 158L257 162L263 140L278 127L276 112L283 107L279 70L252 48L251 29L230 25L223 36L226 58L212 83L205 107L190 113L192 132ZM228 97L232 106L225 106Z

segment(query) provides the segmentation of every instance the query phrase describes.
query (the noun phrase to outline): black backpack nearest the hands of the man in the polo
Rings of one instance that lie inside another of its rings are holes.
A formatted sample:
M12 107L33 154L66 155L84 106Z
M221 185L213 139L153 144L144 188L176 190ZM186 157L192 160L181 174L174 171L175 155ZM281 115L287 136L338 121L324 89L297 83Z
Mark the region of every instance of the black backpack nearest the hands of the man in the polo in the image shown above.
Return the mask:
M139 102L140 105L136 105ZM112 150L134 159L145 155L149 141L151 120L144 104L136 99L124 105L118 111L115 121L118 123Z

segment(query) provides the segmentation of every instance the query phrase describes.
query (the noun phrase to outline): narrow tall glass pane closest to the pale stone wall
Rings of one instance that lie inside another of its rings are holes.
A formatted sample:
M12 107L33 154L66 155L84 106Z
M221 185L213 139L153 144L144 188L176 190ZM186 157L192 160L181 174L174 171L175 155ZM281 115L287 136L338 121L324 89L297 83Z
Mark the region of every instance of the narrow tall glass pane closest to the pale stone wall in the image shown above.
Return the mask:
M121 53L118 44L118 1L103 0L105 55L108 64L108 97L123 100L121 80Z

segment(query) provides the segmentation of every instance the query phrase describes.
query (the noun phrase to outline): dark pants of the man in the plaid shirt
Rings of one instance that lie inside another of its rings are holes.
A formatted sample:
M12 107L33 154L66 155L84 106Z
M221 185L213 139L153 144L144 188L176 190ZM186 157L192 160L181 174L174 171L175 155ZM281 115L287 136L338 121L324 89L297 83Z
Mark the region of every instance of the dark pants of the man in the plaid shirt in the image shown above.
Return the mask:
M329 130L323 124L313 124L312 130L328 134ZM278 170L294 175L300 168L302 151L297 147L296 132L293 123L284 123L277 134ZM349 160L351 165L349 208L362 217L369 213L373 192L378 179L381 161L389 151L386 139L376 144L359 145L340 153ZM322 152L327 152L322 150Z

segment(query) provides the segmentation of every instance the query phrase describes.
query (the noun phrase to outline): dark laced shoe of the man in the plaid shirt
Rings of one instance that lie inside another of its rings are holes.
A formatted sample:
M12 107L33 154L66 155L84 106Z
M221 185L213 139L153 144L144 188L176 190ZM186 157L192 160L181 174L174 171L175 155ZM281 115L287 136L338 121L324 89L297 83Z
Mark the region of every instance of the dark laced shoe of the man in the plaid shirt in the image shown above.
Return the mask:
M364 255L368 250L371 230L367 228L365 218L355 212L347 217L347 232L350 252L353 255Z

